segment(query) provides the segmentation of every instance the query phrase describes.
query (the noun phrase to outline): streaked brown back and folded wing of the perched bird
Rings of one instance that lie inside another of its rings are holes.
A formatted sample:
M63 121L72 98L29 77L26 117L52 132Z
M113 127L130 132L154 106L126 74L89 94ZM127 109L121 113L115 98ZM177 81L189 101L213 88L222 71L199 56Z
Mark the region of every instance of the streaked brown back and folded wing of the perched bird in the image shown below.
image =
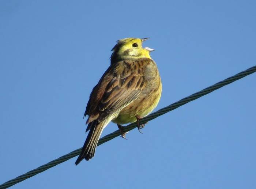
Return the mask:
M91 92L84 113L84 117L89 116L87 123L95 119L101 122L138 98L145 87L143 73L150 61L125 60L112 64Z

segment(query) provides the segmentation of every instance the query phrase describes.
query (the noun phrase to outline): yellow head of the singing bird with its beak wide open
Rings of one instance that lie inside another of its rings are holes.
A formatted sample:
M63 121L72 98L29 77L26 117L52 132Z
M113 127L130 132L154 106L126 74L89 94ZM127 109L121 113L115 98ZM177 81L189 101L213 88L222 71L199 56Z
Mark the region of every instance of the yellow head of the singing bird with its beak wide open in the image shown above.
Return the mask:
M142 47L143 41L148 38L125 38L117 41L117 44L112 49L113 53L111 55L111 62L117 59L123 58L150 58L149 53L154 51L154 49Z

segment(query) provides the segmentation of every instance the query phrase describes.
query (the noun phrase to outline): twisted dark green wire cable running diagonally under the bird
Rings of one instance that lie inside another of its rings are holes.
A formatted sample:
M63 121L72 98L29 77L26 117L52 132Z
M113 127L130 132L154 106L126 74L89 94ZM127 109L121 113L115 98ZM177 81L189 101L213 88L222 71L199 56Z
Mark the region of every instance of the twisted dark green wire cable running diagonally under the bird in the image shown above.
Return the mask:
M202 91L196 92L196 93L194 93L194 94L192 94L192 95L190 95L190 96L188 96L186 98L182 98L180 101L175 102L175 103L173 103L173 104L171 104L169 106L166 106L166 107L164 107L164 108L162 108L162 109L160 109L160 110L158 110L158 111L148 115L147 117L144 117L143 119L140 120L140 123L143 124L143 123L146 123L146 122L148 122L148 121L150 121L152 119L155 119L155 118L157 118L160 115L163 115L163 114L165 114L165 113L167 113L169 111L172 111L172 110L174 110L174 109L176 109L176 108L178 108L178 107L180 107L180 106L182 106L182 105L184 105L184 104L186 104L186 103L188 103L190 101L193 101L193 100L195 100L197 98L200 98L200 97L202 97L202 96L204 96L204 95L206 95L206 94L208 94L208 93L210 93L212 91L215 91L218 88L221 88L221 87L223 87L223 86L225 86L225 85L227 85L229 83L232 83L232 82L234 82L234 81L236 81L238 79L241 79L241 78L245 77L246 75L252 74L253 72L256 72L256 66L253 66L253 67L251 67L251 68L249 68L249 69L247 69L245 71L242 71L242 72L240 72L240 73L238 73L238 74L236 74L234 76L231 76L230 78L222 80L221 82L218 82L218 83L216 83L216 84L214 84L214 85L212 85L210 87L207 87L207 88L203 89ZM130 125L128 125L128 126L126 126L124 128L124 131L132 130L135 127L137 127L137 124L136 123L131 123ZM120 131L116 130L113 133L110 133L110 134L106 135L105 137L102 137L101 139L99 139L98 145L101 145L101 144L103 144L103 143L105 143L105 142L107 142L107 141L109 141L109 140L111 140L111 139L113 139L115 137L118 137L119 135L120 135ZM42 166L40 166L40 167L38 167L36 169L33 169L33 170L31 170L31 171L29 171L29 172L27 172L25 174L22 174L22 175L14 178L14 179L12 179L10 181L7 181L4 184L0 185L0 189L8 188L8 187L10 187L12 185L17 184L18 182L26 180L29 177L33 177L34 175L36 175L38 173L41 173L41 172L43 172L43 171L45 171L45 170L47 170L49 168L52 168L55 165L58 165L58 164L60 164L60 163L62 163L64 161L67 161L70 158L73 158L73 157L79 155L81 150L82 150L82 148L74 150L74 151L72 151L72 152L70 152L70 153L68 153L66 155L63 155L63 156L57 158L56 160L50 161L47 164L44 164L44 165L42 165Z

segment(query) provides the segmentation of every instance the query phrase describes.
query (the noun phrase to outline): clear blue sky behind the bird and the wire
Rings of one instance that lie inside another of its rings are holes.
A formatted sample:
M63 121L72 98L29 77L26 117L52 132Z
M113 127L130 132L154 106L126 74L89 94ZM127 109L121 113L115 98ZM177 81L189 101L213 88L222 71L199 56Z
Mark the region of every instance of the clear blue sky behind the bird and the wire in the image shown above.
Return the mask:
M0 184L84 143L117 39L150 40L157 109L256 65L255 1L0 0ZM256 188L256 74L13 188ZM156 110L157 110L156 109ZM117 126L110 123L106 135Z

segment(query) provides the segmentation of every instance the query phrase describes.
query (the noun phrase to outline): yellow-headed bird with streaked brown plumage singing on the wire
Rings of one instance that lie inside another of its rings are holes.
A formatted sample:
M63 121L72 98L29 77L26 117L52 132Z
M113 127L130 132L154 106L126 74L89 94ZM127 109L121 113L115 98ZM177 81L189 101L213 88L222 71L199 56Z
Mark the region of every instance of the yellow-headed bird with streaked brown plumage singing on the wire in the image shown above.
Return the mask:
M99 137L110 121L121 124L137 121L148 115L158 104L162 92L157 65L150 57L151 48L142 47L148 38L125 38L117 41L112 49L110 66L93 88L84 117L88 115L86 131L89 134L75 165L94 154Z

